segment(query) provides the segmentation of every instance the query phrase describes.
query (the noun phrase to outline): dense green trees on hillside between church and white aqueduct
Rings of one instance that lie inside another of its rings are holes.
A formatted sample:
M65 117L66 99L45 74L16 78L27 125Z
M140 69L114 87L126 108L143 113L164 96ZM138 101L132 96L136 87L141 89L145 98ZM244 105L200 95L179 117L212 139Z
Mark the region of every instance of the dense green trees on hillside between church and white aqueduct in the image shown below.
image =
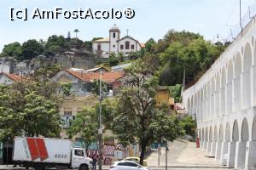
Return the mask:
M212 43L189 31L168 31L163 39L150 38L145 52L160 58L160 85L172 86L196 81L218 59L229 43Z

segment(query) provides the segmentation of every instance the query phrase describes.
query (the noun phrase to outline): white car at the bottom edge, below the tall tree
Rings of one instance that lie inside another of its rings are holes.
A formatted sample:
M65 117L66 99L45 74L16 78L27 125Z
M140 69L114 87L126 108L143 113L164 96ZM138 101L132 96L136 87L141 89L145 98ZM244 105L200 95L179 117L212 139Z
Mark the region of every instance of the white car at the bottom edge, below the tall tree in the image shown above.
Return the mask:
M134 161L114 161L109 170L150 170Z

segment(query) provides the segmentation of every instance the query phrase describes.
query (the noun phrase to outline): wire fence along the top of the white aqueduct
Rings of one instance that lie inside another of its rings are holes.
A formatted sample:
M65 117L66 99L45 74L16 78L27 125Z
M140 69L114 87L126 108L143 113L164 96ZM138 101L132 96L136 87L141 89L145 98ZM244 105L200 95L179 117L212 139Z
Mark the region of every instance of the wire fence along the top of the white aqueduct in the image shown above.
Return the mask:
M230 34L225 39L225 42L233 42L236 37L241 33L241 30L247 26L247 24L256 15L256 1L254 1L248 8L247 12L241 17L241 22L237 23L236 26L230 28Z

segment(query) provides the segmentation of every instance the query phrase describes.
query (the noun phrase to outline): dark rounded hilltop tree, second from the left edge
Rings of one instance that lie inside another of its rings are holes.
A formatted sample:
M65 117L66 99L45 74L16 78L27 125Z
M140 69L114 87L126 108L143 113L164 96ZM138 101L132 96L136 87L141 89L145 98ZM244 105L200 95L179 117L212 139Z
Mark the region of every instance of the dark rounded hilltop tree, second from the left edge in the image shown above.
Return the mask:
M37 40L28 40L21 46L21 59L32 59L44 52L44 47Z

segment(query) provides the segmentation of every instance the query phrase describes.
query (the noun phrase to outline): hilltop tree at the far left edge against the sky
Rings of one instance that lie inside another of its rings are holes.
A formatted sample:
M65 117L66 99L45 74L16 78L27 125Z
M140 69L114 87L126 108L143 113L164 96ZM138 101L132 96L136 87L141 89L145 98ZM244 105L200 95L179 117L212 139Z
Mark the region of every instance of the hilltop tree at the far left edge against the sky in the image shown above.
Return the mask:
M9 43L3 48L3 56L15 57L15 59L20 59L21 55L21 45L19 42Z

